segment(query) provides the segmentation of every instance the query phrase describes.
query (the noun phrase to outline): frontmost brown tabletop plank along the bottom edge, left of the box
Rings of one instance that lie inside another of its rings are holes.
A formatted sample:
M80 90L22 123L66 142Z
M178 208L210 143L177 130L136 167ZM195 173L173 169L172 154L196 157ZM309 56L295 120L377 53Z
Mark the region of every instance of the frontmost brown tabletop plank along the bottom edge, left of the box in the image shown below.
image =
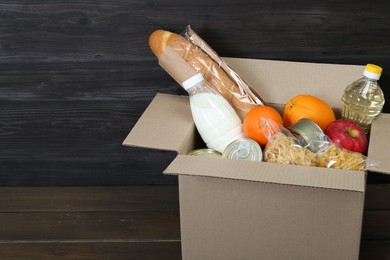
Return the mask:
M83 242L0 243L4 260L52 259L181 259L180 241L172 242Z

